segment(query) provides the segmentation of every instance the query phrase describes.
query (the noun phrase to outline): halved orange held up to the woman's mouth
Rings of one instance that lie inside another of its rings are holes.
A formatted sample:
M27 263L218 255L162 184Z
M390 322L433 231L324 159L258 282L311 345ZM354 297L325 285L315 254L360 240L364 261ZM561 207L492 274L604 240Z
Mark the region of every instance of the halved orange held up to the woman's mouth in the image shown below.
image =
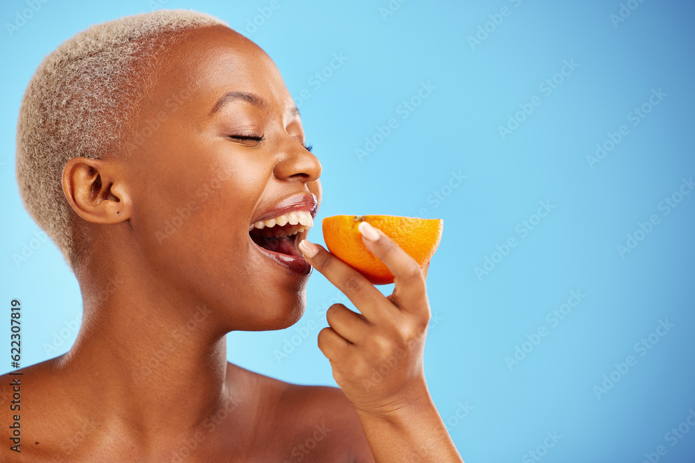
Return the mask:
M424 268L439 246L444 221L396 215L334 215L322 221L323 239L332 254L374 285L393 283L393 274L362 242L357 226L366 221L382 230Z

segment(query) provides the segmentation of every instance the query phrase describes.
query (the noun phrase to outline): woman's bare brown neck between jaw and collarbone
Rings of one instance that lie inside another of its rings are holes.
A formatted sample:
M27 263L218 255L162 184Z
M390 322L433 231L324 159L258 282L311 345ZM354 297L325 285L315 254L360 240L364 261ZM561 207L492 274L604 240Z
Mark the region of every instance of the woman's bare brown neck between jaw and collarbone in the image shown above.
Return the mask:
M227 399L225 333L204 303L132 270L79 278L83 322L60 367L86 416L144 440L188 432Z

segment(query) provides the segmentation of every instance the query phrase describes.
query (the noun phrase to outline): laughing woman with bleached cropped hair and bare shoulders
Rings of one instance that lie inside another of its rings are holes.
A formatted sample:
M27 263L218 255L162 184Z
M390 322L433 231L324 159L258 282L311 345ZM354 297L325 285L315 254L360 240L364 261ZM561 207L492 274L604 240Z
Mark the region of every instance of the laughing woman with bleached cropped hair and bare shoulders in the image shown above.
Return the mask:
M304 142L270 58L208 15L98 24L44 60L17 179L83 323L21 371L21 453L3 461L461 461L423 374L425 272L361 224L396 277L387 298L304 239L321 200ZM300 319L312 267L361 312L333 305L318 337L342 390L229 364L227 332Z

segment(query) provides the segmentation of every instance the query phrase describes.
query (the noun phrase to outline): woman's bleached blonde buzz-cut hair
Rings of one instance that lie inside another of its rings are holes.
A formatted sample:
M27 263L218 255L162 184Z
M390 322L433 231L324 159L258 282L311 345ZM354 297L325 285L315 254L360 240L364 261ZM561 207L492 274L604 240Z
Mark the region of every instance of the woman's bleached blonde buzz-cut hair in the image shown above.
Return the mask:
M221 19L188 10L156 10L94 24L51 52L31 78L17 121L17 184L24 207L74 269L79 216L63 193L72 158L118 155L129 122L152 85L157 53Z

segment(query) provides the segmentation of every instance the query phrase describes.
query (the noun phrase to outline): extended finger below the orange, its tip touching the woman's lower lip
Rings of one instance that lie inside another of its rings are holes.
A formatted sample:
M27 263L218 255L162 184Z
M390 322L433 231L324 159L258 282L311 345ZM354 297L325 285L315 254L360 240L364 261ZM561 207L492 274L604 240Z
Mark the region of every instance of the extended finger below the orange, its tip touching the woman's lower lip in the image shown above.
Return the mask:
M366 319L376 320L379 318L379 314L383 316L384 309L377 309L377 304L389 302L388 299L359 271L329 253L320 244L302 239L300 249L304 254L304 259L311 264L311 267L320 271L323 276L336 285ZM389 305L391 305L390 302Z

